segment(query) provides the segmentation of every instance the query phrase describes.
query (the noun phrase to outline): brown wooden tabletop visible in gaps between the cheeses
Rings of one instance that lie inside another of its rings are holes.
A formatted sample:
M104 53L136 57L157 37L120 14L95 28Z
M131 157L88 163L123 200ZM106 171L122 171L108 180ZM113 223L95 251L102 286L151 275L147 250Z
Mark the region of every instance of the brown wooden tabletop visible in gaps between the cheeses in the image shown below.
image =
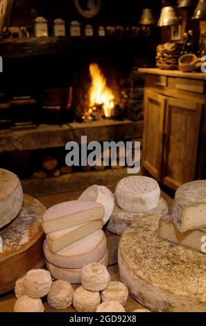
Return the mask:
M114 192L114 188L115 188L114 186L109 186L109 188L111 189L111 191ZM46 208L49 208L52 205L62 203L67 200L76 200L79 196L80 196L80 192L77 191L77 192L70 192L68 194L47 196L47 197L40 198L40 200ZM173 200L163 192L162 192L162 197L168 203L169 210L171 210L171 207L173 205ZM109 250L109 257L110 257L108 271L112 277L112 281L118 281L119 273L118 273L118 265L117 265L117 250L118 250L120 237L116 234L112 234L111 232L108 232L107 230L105 230L105 234L108 239L108 250ZM74 289L76 289L78 286L79 285L74 285L73 287ZM6 293L4 295L0 295L0 312L12 312L15 301L16 298L13 291L11 291L10 293ZM51 307L49 307L46 301L44 302L44 307L46 312L75 312L73 307L69 307L68 309L65 310L51 309ZM137 301L129 297L125 308L127 312L132 312L135 309L142 308L142 306Z

